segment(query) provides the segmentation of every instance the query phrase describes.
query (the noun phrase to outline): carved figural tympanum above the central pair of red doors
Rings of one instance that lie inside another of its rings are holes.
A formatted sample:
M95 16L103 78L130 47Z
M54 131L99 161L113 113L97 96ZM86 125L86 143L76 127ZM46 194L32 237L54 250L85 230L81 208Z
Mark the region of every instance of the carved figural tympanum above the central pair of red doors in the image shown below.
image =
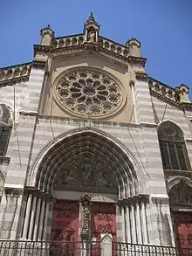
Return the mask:
M55 177L55 190L84 190L115 192L116 178L104 161L86 153L68 159Z

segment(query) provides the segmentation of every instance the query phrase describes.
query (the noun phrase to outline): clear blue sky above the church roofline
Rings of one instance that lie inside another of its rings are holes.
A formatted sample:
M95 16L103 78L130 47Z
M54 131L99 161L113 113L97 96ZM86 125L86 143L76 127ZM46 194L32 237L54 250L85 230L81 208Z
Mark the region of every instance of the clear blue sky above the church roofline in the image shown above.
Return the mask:
M83 31L91 10L102 36L141 41L150 76L192 88L192 0L1 0L0 66L31 61L46 24L57 37Z

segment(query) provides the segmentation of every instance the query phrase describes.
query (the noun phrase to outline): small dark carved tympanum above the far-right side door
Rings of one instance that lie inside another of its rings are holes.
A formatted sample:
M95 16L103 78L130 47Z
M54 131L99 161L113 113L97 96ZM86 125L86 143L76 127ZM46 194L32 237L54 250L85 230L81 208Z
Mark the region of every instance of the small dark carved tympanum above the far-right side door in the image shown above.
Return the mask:
M191 204L192 205L192 188L186 183L176 184L169 192L170 204Z

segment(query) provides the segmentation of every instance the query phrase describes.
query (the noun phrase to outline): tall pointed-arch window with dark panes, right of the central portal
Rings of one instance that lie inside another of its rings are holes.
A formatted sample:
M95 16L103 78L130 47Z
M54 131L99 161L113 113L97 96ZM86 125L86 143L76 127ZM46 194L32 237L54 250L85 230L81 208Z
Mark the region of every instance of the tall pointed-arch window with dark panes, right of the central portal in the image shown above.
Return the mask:
M190 170L189 156L182 130L171 121L158 128L161 158L164 170Z

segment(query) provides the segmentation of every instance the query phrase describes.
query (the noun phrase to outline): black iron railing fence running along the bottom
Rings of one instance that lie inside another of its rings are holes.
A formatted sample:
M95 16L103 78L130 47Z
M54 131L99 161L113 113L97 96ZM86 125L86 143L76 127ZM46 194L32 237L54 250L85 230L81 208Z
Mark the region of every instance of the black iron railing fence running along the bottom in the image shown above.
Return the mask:
M0 256L192 256L192 249L91 241L0 240Z

